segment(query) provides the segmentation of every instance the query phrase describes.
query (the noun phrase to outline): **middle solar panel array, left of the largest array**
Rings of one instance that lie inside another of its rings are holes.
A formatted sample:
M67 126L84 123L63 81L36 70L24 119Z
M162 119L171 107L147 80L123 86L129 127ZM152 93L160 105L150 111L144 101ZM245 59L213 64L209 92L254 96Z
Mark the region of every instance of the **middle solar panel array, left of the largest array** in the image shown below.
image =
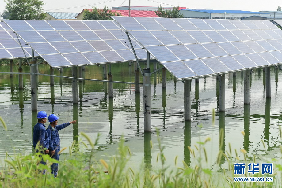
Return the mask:
M51 67L135 60L127 35L114 21L5 20ZM137 57L147 51L137 42Z

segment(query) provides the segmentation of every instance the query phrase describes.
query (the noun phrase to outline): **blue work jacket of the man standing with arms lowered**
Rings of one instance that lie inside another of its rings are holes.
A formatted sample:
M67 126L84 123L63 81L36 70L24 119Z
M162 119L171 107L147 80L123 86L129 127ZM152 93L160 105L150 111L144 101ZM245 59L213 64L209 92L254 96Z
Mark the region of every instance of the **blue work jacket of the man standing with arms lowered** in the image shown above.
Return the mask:
M38 141L40 141L40 146L43 146L43 148L49 148L49 137L43 123L36 123L33 127L33 148L35 148Z

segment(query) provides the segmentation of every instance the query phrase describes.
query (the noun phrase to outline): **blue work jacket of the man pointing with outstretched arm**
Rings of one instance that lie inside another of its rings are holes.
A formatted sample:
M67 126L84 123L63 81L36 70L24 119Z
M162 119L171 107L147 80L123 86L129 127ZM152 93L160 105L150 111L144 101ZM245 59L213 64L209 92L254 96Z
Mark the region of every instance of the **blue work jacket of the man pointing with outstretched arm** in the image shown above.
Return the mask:
M69 126L70 123L63 123L61 125L56 125L53 131L53 127L51 125L49 125L47 127L47 134L49 137L49 150L53 151L56 148L60 147L60 137L59 137L59 133L58 131L61 129L66 128L67 126Z

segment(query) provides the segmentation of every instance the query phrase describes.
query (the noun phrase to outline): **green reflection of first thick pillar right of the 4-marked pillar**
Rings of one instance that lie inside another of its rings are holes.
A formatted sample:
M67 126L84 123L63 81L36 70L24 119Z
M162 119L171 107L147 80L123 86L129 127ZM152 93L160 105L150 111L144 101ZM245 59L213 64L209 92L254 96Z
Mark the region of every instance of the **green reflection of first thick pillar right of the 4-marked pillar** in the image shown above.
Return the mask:
M184 162L190 166L191 153L188 146L191 147L191 121L184 121Z

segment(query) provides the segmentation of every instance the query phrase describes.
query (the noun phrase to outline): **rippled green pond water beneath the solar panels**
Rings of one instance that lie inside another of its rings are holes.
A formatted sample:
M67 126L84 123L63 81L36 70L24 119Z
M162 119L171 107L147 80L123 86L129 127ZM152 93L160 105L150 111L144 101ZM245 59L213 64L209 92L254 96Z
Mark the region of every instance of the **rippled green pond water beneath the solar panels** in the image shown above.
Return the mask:
M145 65L142 65L145 67ZM18 66L14 66L17 70ZM29 72L29 66L23 67ZM9 66L0 66L0 72L9 72ZM151 63L151 70L153 64ZM251 160L253 154L260 162L268 162L281 157L279 146L281 139L279 127L282 122L282 72L271 68L271 99L265 99L265 79L262 69L255 69L251 74L250 105L244 105L244 78L241 72L237 76L226 76L226 112L218 112L219 83L215 76L202 78L197 84L191 84L192 121L184 121L184 91L182 82L174 82L173 76L166 73L166 89L162 88L162 71L151 76L152 133L144 134L143 127L143 87L140 94L135 94L134 85L113 83L113 99L105 94L105 83L83 81L78 83L79 101L72 104L72 83L70 79L55 77L55 86L50 87L50 77L39 76L38 111L59 116L59 124L78 119L78 123L59 131L61 148L71 146L72 142L82 139L84 132L94 141L100 133L95 157L106 158L116 154L118 143L123 137L124 145L129 146L132 157L129 164L139 168L145 161L156 167L159 153L157 132L165 146L164 154L167 164L183 167L182 161L194 165L196 160L190 155L187 146L195 149L197 142L211 138L205 144L208 153L207 166L215 171L228 168L222 158L216 164L219 149L229 151L229 143L237 150L247 151ZM39 65L39 73L49 74L47 64ZM103 79L102 66L88 66L85 78ZM134 66L128 63L112 65L113 80L134 82ZM60 72L55 69L55 75ZM63 69L63 76L71 76L71 68ZM18 89L18 75L10 78L9 74L0 74L0 116L6 122L8 131L0 126L0 166L6 151L14 153L32 152L32 128L36 124L37 112L31 112L30 78L24 75L24 89ZM140 82L142 82L140 77ZM212 125L211 111L215 109L215 125ZM224 142L219 146L219 130L223 128ZM244 134L242 134L244 131ZM152 140L153 148L150 148ZM83 152L89 152L80 146ZM63 152L67 156L68 149ZM63 158L63 157L61 157ZM3 168L3 167L2 167Z

